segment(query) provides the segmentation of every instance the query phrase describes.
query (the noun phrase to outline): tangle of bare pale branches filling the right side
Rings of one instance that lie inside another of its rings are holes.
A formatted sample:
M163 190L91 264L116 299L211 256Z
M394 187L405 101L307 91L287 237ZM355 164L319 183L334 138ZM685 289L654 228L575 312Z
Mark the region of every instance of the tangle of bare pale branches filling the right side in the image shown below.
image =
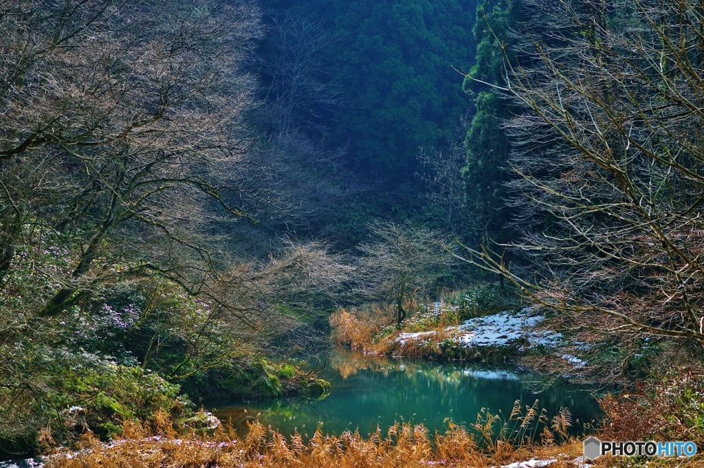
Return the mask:
M524 8L539 26L509 38L519 65L507 62L503 88L522 108L506 125L524 236L465 252L624 348L643 336L704 343L701 5ZM508 265L507 248L526 261Z

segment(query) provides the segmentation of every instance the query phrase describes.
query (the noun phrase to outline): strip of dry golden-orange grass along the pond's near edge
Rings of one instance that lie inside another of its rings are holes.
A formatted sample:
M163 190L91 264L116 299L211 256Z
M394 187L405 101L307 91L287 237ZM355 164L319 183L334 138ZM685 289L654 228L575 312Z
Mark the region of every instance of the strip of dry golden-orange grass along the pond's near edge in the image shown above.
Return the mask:
M110 444L87 434L79 452L58 453L50 457L46 468L486 467L555 453L554 445L514 448L506 440L480 450L476 436L454 424L434 436L422 425L407 423L391 426L386 434L377 429L366 438L349 431L325 436L318 430L303 443L298 434L287 439L258 422L249 424L244 440L237 440L230 429L180 435L167 418L157 419L158 424L151 427L125 423L124 438ZM486 441L479 445L486 447Z

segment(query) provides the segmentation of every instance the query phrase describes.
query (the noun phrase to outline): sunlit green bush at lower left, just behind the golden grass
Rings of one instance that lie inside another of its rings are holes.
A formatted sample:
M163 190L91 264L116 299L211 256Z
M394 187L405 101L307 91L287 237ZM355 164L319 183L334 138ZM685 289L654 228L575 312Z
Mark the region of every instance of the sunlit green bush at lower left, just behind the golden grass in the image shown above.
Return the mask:
M179 386L140 367L67 350L28 351L26 386L0 389L0 452L70 445L86 429L107 438L127 419L151 421L157 412L177 418L191 410Z

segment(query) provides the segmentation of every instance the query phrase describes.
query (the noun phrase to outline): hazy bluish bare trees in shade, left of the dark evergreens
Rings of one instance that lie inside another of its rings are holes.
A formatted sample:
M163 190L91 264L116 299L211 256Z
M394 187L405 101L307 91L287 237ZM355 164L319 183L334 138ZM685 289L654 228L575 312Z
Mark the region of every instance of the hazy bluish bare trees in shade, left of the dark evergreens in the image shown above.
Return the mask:
M262 102L249 118L259 133L256 158L268 167L270 186L285 209L260 217L256 227L233 224L240 235L231 248L270 253L282 232L325 237L348 248L341 220L363 188L345 167L346 148L326 138L326 122L344 105L327 59L341 37L300 16L265 14L263 24L253 60Z

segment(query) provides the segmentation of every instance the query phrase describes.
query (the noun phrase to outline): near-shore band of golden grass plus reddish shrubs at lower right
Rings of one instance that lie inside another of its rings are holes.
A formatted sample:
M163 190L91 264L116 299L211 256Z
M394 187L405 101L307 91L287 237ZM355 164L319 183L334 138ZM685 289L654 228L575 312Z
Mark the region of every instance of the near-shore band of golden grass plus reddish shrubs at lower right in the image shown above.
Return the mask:
M686 389L683 391L683 389ZM693 394L704 390L704 374L670 372L653 387L605 396L603 426L593 428L601 440L692 440L704 446L699 431L701 414ZM689 399L689 400L688 400ZM508 421L488 410L474 424L459 426L450 420L444 432L429 434L420 425L396 423L386 433L364 436L359 431L325 435L322 423L310 441L296 433L289 438L258 420L249 422L239 437L227 424L208 424L177 431L165 412L151 424L127 420L121 436L106 443L86 432L77 450L61 448L41 460L44 468L84 467L645 467L702 466L700 455L691 459L582 456L582 440L567 436L570 413L563 410L548 421L533 407L517 401ZM699 419L698 419L699 418ZM208 426L209 425L209 426ZM0 466L2 466L0 464ZM10 465L12 466L12 465Z

